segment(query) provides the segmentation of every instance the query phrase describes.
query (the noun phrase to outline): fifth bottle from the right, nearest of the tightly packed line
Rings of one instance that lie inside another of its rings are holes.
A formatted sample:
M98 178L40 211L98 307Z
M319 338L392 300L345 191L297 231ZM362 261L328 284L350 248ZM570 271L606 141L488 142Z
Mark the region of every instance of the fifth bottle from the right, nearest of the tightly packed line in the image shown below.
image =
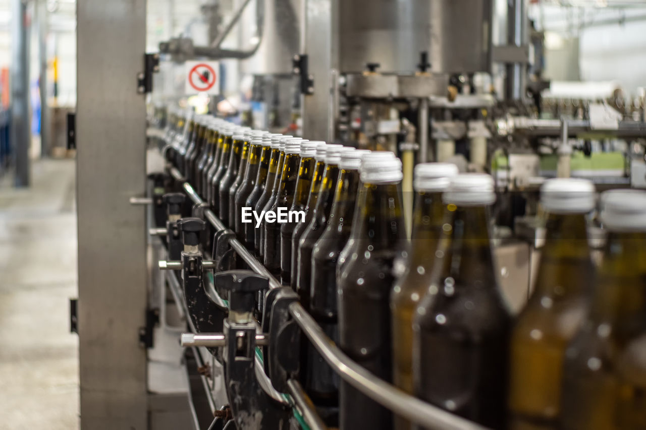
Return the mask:
M401 161L364 156L351 236L355 251L337 280L339 347L355 362L390 382L390 306L393 261L406 240ZM339 429L392 428L390 410L340 382Z

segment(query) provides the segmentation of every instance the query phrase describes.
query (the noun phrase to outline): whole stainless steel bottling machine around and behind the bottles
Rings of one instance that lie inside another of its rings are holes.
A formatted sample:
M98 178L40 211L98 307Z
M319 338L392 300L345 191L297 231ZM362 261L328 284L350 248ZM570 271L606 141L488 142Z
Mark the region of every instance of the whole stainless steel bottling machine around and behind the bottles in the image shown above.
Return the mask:
M514 311L541 252L546 178L646 188L646 99L541 97L542 39L523 0L503 17L490 0L244 0L224 17L217 3L205 9L209 46L177 37L155 54L144 53L145 0L78 4L81 427L326 429L298 380L298 345L308 342L397 415L482 428L353 362L209 209L166 158L182 138L168 119L183 94L157 98L146 117L158 64L239 59L258 103L247 125L395 152L404 194L419 162L492 174L497 268ZM255 45L222 48L234 30ZM501 85L494 68L505 70ZM227 270L233 255L250 270Z

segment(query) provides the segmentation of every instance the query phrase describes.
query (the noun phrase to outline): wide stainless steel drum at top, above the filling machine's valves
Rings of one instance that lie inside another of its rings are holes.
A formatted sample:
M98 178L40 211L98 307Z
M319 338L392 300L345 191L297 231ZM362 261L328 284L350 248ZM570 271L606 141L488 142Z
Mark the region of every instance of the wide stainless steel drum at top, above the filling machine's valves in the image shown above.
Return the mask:
M410 74L428 52L433 72L490 68L491 0L338 0L339 69Z

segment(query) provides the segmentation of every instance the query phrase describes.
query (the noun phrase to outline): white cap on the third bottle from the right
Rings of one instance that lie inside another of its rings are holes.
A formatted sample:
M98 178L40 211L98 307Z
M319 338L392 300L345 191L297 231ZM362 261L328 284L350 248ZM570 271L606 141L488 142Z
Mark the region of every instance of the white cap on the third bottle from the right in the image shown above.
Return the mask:
M452 176L442 201L460 206L491 205L495 202L494 178L485 173Z

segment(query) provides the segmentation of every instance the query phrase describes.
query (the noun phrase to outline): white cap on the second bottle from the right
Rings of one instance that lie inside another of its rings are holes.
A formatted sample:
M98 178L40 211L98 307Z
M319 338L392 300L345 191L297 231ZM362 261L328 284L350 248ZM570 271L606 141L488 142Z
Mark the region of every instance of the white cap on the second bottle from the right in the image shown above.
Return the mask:
M541 187L541 205L548 212L585 214L594 203L594 184L587 179L548 179Z

